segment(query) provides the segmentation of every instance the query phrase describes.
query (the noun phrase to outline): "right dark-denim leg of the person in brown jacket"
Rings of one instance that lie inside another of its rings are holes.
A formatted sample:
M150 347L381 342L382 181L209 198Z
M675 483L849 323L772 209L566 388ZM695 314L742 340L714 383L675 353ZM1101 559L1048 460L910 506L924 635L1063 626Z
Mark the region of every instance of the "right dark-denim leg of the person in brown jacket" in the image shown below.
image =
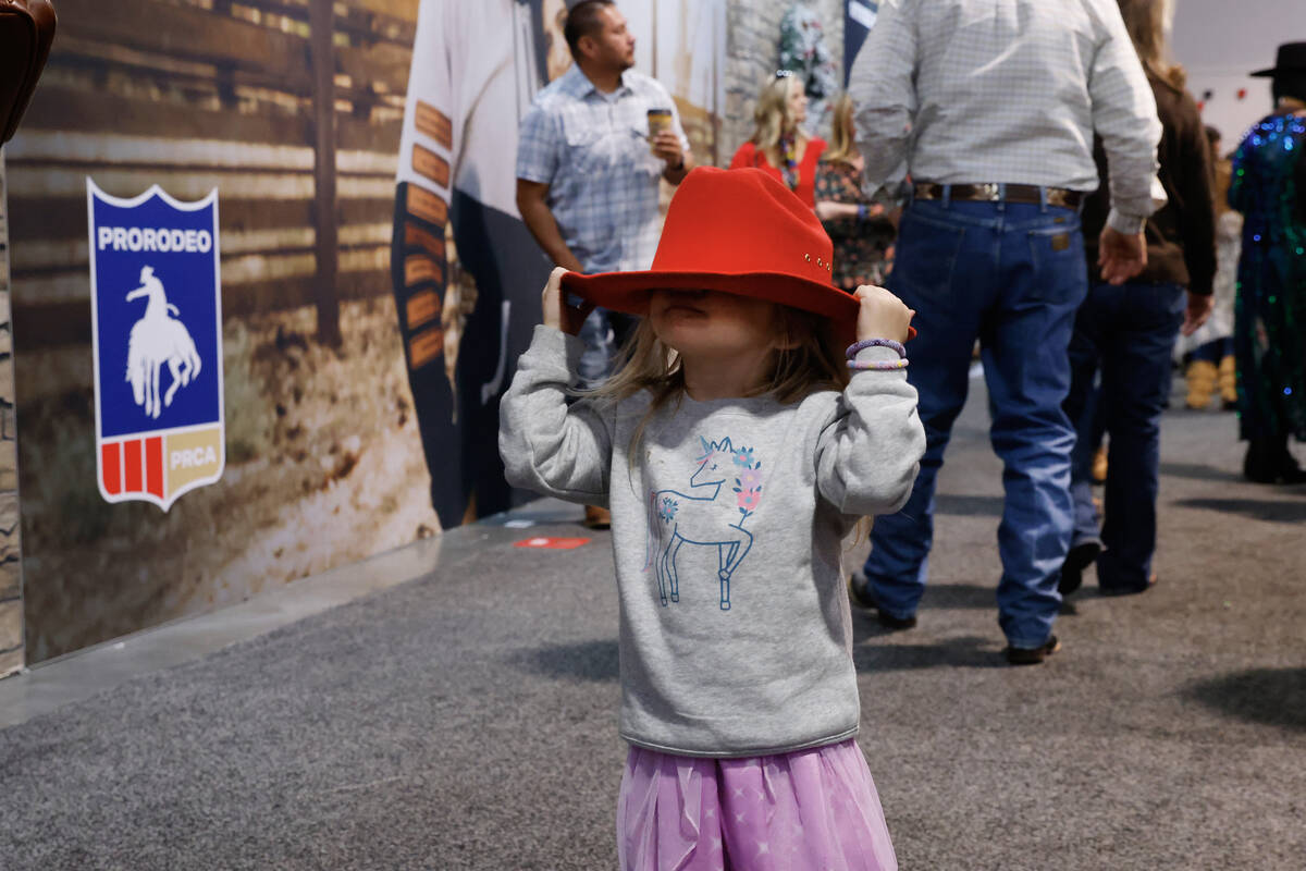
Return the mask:
M1140 590L1156 551L1156 499L1161 464L1161 413L1170 388L1170 358L1183 321L1177 285L1124 285L1110 353L1102 358L1102 398L1111 435L1097 582ZM1097 290L1094 289L1094 294Z

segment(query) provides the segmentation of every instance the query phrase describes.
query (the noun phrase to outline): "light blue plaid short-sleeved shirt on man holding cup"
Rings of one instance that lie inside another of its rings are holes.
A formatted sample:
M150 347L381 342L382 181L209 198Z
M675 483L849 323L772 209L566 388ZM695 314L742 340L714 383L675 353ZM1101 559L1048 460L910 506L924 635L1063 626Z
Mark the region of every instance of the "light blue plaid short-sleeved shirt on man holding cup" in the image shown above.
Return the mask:
M521 121L517 178L549 185L549 208L585 272L648 269L658 242L658 178L666 163L648 141L648 110L670 108L680 148L690 141L670 94L626 71L603 94L573 65L541 90Z

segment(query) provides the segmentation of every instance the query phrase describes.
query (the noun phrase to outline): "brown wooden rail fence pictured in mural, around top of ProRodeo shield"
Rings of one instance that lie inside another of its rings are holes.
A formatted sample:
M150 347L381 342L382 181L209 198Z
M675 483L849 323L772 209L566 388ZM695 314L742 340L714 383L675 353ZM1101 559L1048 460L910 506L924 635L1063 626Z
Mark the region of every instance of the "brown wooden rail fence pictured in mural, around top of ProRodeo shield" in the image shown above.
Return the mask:
M226 317L390 293L417 0L60 0L8 149L16 340L90 343L86 184L219 189Z

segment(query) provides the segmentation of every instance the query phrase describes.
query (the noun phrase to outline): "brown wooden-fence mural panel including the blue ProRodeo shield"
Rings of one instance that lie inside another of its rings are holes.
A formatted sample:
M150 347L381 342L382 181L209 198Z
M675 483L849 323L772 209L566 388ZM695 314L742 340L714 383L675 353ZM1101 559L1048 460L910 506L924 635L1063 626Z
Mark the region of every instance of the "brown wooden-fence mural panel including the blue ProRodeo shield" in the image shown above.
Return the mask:
M440 530L389 272L418 1L57 3L4 149L29 665Z

